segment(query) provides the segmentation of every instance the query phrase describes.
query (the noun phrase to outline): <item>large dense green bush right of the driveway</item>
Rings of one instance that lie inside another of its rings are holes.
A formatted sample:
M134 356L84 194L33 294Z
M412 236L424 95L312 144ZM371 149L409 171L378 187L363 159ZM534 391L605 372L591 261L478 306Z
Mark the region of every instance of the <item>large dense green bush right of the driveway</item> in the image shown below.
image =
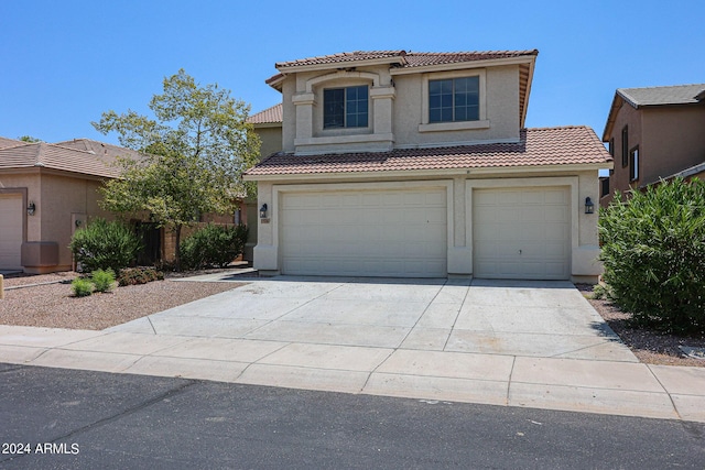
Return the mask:
M618 194L598 226L609 293L634 324L705 330L705 182Z

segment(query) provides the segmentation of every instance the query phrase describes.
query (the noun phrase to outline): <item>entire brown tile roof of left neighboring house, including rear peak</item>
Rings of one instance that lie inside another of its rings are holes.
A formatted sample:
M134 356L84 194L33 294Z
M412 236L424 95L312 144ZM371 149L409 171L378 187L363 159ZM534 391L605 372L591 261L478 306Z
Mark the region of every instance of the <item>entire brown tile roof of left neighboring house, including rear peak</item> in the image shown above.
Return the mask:
M0 149L0 170L45 167L90 176L118 177L120 171L111 164L115 159L118 155L137 154L128 149L87 139L65 143L76 147L66 146L64 143L37 142ZM102 153L93 150L94 147Z

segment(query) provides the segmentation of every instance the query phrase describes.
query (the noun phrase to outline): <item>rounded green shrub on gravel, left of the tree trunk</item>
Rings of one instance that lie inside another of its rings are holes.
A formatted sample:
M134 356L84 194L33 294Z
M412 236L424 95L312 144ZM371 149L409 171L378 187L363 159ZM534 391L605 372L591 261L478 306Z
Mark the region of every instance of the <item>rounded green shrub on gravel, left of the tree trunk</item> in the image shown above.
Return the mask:
M137 259L141 242L123 223L96 219L74 233L69 248L85 272L108 269L119 272Z

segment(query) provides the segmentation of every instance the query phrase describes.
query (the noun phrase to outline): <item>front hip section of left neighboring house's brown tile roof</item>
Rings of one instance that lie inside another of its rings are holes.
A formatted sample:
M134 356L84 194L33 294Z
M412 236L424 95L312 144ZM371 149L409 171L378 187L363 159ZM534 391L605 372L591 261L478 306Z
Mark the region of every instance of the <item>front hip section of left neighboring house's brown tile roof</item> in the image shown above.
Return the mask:
M118 177L119 168L93 152L46 142L0 149L0 170L51 168L83 175Z

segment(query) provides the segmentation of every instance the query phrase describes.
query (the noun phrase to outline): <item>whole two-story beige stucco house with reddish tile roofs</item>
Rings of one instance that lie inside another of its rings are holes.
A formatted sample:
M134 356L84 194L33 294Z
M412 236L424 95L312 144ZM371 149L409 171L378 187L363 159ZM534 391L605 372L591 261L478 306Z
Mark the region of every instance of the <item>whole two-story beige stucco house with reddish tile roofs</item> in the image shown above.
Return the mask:
M278 63L267 83L282 92L281 151L246 174L258 183L254 267L595 281L592 205L612 162L589 128L524 129L536 56Z

